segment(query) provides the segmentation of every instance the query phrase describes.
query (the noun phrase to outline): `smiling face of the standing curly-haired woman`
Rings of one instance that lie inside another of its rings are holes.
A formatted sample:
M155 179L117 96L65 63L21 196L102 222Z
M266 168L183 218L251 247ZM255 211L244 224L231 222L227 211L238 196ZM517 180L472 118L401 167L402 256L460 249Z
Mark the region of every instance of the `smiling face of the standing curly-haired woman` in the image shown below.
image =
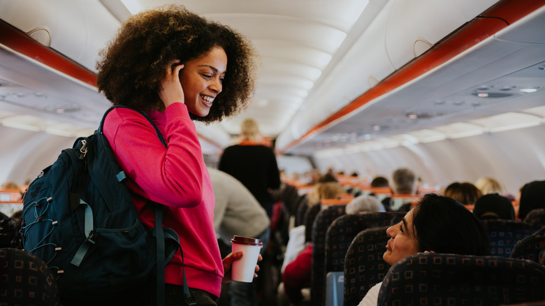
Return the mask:
M221 92L221 82L227 68L227 54L222 48L216 47L183 64L180 84L184 89L184 103L191 114L205 117Z

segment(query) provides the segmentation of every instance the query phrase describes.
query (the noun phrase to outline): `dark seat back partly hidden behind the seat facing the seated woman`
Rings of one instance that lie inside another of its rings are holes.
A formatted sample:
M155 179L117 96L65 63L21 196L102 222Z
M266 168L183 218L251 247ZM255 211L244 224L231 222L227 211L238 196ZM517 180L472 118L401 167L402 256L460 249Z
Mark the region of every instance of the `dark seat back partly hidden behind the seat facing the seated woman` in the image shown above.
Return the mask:
M389 226L393 224L392 219L398 223L398 217L403 216L405 212L365 212L344 214L335 219L326 233L326 275L328 272L344 270L344 257L358 233L367 228Z

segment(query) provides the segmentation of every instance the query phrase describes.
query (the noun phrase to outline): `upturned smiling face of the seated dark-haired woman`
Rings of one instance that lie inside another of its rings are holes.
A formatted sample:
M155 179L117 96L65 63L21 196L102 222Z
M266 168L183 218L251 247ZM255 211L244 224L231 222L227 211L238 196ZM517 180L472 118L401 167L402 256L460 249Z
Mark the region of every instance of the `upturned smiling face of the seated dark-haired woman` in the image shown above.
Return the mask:
M389 265L397 263L401 258L418 253L418 242L413 234L412 214L413 210L407 212L403 220L388 227L386 233L390 236L386 245L386 252L382 258Z

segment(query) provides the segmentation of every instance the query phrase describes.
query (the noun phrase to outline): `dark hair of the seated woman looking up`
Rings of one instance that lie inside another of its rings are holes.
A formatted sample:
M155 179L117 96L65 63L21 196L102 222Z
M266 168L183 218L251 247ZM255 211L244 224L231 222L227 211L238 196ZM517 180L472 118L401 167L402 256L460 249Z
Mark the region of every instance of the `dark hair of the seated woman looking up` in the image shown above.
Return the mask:
M488 233L464 205L446 196L426 194L413 211L419 252L489 255Z

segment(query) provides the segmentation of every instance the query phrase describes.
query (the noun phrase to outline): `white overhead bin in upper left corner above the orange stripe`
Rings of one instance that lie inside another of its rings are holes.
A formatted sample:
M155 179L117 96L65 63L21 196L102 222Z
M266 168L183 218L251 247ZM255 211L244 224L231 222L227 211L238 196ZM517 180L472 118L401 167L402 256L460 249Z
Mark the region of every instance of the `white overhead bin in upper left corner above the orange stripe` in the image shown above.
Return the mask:
M0 1L0 19L91 71L119 21L100 1Z

